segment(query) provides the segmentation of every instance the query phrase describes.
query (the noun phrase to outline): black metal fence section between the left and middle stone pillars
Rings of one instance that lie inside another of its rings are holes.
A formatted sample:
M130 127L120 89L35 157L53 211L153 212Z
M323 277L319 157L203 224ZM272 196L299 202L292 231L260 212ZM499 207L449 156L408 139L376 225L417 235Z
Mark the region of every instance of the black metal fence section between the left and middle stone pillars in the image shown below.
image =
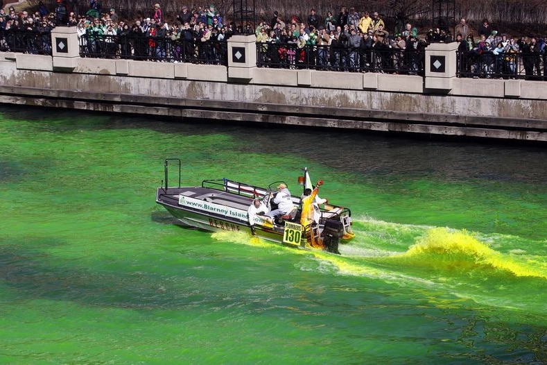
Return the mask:
M88 34L80 37L80 56L86 58L228 65L227 53L227 42L219 40L194 42L166 37Z

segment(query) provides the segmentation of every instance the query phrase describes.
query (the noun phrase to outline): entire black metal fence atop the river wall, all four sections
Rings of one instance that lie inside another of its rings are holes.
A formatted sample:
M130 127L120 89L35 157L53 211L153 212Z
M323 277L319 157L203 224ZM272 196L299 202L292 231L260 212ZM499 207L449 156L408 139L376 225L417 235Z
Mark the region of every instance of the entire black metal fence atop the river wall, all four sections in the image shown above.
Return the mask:
M172 40L134 35L83 35L80 56L192 62L227 66L227 42ZM0 33L0 51L51 56L51 31L9 29ZM515 78L547 80L545 53L457 53L456 76L460 78ZM257 43L257 66L324 71L379 72L424 76L424 49L370 49L295 43Z

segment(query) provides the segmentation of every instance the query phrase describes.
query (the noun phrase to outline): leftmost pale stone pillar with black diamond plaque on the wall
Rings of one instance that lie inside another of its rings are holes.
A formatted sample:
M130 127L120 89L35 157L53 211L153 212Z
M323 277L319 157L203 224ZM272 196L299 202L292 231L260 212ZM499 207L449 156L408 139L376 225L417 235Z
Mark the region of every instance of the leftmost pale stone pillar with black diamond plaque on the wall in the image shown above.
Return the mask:
M76 26L57 26L51 30L53 70L71 72L80 58Z

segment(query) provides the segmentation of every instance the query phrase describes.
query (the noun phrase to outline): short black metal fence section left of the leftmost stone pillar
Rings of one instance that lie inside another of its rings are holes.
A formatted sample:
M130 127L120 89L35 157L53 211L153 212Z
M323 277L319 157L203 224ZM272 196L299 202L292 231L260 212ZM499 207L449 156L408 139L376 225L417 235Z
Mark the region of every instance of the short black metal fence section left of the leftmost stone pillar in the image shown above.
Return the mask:
M0 33L0 51L51 56L51 31L11 28Z

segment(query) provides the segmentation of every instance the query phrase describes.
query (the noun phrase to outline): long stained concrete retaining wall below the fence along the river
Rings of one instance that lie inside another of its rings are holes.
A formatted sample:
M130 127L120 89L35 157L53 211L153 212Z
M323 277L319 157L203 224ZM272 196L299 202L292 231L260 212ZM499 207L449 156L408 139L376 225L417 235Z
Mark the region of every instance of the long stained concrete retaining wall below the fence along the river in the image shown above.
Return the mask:
M547 140L547 82L441 82L431 89L421 76L257 67L234 73L219 65L92 58L55 62L51 56L0 53L2 103Z

